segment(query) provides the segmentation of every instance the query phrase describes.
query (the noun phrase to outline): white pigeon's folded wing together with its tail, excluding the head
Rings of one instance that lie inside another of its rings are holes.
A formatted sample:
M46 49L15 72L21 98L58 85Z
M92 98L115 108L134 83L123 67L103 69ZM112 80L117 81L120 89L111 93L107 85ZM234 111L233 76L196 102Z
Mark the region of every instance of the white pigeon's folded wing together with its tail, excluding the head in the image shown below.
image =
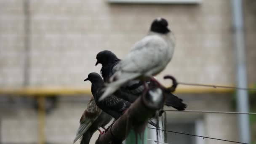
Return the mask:
M145 73L149 76L155 74L156 68L162 64L163 58L168 54L166 50L168 50L168 44L159 35L149 35L137 42L125 59L115 67L117 70L109 79L111 83L107 85L99 101L114 93L129 80ZM113 80L115 81L113 82Z

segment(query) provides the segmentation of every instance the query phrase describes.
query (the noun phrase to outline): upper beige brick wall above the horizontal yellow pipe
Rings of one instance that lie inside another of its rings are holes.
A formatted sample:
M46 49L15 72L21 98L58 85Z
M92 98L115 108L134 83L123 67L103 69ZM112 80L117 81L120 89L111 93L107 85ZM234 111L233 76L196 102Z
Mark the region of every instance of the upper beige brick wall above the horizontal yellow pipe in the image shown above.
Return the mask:
M228 0L203 0L200 5L108 4L104 0L30 2L32 86L89 87L83 78L89 72L99 72L99 67L94 67L96 53L109 49L123 58L158 16L168 19L177 38L173 60L159 77L172 74L180 81L235 83ZM0 85L19 87L24 71L23 3L0 3ZM252 29L254 15L247 11L246 26ZM250 30L247 34L251 83L256 80L252 74L254 33Z

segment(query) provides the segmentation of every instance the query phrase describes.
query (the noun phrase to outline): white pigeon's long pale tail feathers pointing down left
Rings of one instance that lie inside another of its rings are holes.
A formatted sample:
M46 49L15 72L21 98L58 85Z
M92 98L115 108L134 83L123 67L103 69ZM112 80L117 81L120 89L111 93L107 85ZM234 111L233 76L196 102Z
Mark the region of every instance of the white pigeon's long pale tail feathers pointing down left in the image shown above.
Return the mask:
M104 93L99 98L99 101L105 99L107 96L110 96L112 93L117 91L117 89L119 89L124 83L128 82L129 80L133 80L139 75L139 73L123 73L116 81L107 84L106 88L104 88Z

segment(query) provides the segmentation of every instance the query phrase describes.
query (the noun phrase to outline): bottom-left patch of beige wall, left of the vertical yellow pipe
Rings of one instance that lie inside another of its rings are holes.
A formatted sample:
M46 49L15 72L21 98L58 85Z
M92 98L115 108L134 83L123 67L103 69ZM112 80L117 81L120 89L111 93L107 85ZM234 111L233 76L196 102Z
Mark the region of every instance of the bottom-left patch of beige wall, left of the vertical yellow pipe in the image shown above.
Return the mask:
M0 123L0 143L37 142L37 113L31 107L1 107Z

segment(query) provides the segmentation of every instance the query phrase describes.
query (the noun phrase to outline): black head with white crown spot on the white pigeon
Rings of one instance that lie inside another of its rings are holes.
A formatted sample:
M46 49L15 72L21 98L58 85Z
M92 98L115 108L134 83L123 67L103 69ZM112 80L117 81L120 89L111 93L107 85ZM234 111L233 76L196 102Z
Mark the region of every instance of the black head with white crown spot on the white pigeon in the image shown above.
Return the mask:
M166 34L170 32L170 30L168 29L168 22L166 21L166 19L157 18L152 22L150 31L160 34Z

